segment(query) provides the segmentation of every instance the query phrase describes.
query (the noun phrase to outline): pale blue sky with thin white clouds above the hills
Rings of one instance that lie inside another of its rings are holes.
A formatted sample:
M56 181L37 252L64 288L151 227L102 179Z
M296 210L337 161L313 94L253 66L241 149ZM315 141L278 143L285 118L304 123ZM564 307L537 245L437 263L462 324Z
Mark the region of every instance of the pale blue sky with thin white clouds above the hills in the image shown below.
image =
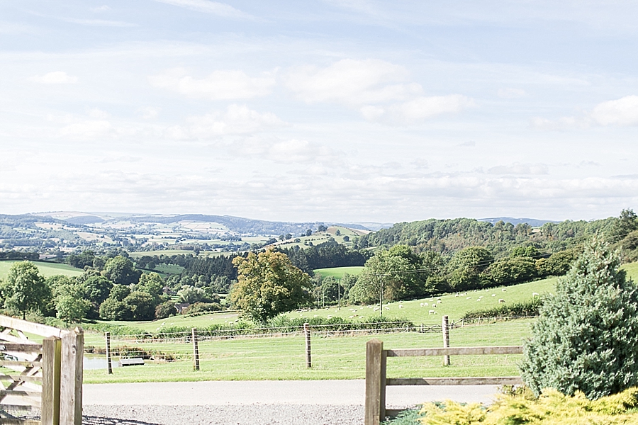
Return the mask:
M0 0L0 213L638 208L638 3Z

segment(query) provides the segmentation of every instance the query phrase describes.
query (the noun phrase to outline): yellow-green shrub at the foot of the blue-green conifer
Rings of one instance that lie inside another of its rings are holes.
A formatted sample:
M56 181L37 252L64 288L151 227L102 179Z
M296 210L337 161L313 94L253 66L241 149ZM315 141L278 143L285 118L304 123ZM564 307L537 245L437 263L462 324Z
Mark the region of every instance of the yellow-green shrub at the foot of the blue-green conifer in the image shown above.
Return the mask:
M635 425L638 424L638 388L589 400L582 392L572 397L552 389L538 399L525 394L499 395L489 407L481 404L427 403L421 409L423 425Z

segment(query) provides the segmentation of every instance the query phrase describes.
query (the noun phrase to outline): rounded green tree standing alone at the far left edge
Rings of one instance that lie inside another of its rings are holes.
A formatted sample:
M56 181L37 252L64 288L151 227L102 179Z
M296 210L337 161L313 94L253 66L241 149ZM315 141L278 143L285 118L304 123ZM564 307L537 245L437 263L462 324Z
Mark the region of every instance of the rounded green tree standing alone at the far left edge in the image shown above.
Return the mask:
M13 263L0 290L4 307L20 312L23 319L26 312L41 310L51 299L50 288L40 276L38 267L30 261Z

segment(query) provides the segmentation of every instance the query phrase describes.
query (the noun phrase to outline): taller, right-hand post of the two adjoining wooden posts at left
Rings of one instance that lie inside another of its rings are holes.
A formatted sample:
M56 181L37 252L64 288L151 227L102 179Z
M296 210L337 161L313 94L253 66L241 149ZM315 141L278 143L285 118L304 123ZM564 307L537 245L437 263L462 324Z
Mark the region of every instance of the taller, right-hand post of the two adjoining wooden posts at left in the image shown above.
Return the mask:
M84 331L75 328L62 335L60 367L60 425L82 425Z

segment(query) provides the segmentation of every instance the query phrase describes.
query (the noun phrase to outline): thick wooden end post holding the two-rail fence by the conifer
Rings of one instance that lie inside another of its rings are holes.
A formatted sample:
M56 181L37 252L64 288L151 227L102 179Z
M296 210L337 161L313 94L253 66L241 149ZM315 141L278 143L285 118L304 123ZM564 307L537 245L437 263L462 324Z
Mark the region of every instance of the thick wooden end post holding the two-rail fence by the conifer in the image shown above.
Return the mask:
M366 344L365 425L379 425L386 419L386 352L383 341Z

